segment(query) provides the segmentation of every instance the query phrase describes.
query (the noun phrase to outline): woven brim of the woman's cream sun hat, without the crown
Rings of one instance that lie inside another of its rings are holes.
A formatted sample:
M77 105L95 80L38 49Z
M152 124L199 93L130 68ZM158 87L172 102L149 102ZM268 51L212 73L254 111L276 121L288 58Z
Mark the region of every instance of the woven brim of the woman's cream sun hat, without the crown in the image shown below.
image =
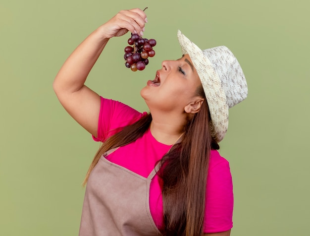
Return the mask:
M228 104L222 82L213 68L213 64L203 51L178 30L178 40L183 54L188 54L202 82L211 120L216 132L216 141L220 142L228 128Z

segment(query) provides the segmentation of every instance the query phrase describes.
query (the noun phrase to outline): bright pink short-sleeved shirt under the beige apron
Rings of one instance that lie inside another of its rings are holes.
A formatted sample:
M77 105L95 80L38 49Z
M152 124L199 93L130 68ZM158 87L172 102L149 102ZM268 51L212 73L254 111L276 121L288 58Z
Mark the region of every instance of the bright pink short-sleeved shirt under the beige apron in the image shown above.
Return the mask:
M98 137L104 141L117 132L117 128L131 124L147 113L140 113L117 101L101 98ZM170 149L170 145L159 143L148 130L142 137L117 149L106 157L110 162L125 167L143 177L148 177L156 162ZM155 225L163 229L161 188L156 175L150 186L150 210ZM217 233L232 228L233 186L229 163L216 150L211 150L207 175L205 233Z

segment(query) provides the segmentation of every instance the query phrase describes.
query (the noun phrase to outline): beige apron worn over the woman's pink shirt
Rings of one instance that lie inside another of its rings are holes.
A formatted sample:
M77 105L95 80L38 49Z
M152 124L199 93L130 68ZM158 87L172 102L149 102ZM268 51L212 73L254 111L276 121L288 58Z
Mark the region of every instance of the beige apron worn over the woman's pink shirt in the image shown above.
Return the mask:
M156 167L142 177L104 157L88 179L79 236L159 236L153 221L149 193Z

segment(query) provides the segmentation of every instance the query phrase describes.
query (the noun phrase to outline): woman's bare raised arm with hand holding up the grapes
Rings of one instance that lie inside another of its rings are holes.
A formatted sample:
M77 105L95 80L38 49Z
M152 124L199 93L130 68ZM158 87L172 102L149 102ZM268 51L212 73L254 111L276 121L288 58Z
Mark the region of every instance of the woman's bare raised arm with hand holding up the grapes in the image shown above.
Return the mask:
M69 56L57 73L53 89L64 109L97 136L100 96L85 86L86 78L108 40L128 31L142 32L146 14L141 9L122 10L91 33Z

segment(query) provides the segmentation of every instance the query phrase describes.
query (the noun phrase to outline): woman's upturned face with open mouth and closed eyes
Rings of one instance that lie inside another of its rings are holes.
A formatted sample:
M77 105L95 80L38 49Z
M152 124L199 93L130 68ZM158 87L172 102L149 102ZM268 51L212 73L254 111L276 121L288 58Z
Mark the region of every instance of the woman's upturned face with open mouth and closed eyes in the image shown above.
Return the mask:
M197 99L201 85L198 73L188 54L177 60L164 60L155 79L141 90L148 107L161 111L184 112L184 107Z

